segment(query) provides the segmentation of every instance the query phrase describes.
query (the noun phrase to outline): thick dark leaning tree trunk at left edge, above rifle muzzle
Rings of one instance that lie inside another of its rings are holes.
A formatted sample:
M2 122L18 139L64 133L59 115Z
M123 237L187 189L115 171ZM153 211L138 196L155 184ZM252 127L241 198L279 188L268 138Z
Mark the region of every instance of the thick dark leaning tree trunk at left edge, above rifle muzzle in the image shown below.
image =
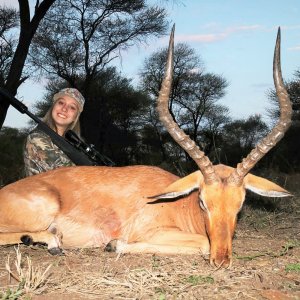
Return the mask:
M2 66L2 87L7 89L12 95L17 93L19 86L28 78L23 76L23 68L29 51L32 38L46 12L55 0L43 0L41 3L36 0L34 15L30 20L30 7L28 0L19 1L19 18L20 18L20 35L18 42L12 39L6 39L6 35L18 25L16 19L16 11L2 8L0 11L0 33L1 33L1 48L8 50L6 52L5 61ZM8 19L11 17L11 19ZM16 46L15 46L16 43ZM6 118L9 102L0 97L0 129Z

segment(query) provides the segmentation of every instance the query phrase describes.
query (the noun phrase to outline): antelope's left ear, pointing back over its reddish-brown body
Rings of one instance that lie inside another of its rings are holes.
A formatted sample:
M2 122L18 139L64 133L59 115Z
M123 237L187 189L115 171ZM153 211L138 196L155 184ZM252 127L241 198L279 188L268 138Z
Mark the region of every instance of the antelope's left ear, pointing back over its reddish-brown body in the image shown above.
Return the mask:
M191 192L197 190L202 185L204 179L200 171L191 173L188 176L180 178L170 184L161 194L150 196L149 199L176 199L179 197L184 197L190 194ZM156 201L155 200L155 201ZM153 202L155 202L153 201ZM148 202L148 203L153 203Z

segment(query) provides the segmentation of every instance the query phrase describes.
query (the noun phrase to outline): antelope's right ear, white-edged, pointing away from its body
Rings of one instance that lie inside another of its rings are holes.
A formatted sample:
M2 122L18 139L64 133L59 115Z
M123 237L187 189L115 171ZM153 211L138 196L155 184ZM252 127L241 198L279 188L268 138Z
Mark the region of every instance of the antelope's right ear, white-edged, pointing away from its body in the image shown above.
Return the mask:
M255 176L252 174L247 174L244 178L245 188L258 195L265 197L288 197L292 196L287 190L281 186L273 183L272 181Z

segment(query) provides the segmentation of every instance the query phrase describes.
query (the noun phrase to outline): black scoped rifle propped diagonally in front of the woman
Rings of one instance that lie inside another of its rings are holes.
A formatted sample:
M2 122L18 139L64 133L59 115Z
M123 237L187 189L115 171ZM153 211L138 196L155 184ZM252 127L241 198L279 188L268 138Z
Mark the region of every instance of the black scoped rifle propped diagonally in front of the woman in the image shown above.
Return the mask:
M46 125L40 118L32 114L25 104L12 96L6 90L0 88L0 94L20 113L26 114L32 120L34 120L38 124L37 128L45 132L51 138L52 142L59 147L74 164L78 166L114 165L109 158L100 154L93 145L88 145L80 140L75 132L69 130L69 132L67 132L67 136L69 138L64 139L48 125Z

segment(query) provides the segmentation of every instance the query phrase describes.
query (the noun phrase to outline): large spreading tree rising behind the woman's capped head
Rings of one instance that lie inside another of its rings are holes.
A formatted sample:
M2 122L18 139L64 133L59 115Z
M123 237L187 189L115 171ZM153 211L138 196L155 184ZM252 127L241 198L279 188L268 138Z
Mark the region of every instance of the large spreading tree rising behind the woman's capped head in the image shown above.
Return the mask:
M82 92L83 135L90 139L103 99L93 90L100 72L122 51L166 28L165 10L143 0L57 0L34 39L31 63L48 78L61 78Z

